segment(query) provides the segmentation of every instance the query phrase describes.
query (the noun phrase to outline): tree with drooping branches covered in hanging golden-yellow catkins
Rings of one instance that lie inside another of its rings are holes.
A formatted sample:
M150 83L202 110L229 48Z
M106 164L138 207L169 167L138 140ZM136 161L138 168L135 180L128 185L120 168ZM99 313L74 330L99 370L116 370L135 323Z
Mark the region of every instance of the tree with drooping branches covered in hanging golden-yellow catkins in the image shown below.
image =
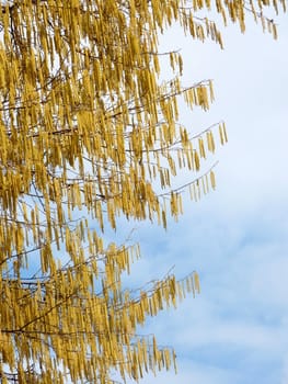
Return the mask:
M197 273L124 289L139 249L103 238L119 217L177 218L182 170L193 200L215 188L203 165L227 142L224 123L194 135L177 109L182 98L208 111L212 82L184 87L178 52L164 54L174 76L160 81L159 35L177 22L221 48L218 13L241 32L251 15L276 38L265 7L285 1L1 1L1 383L138 381L175 365L139 326L197 293Z

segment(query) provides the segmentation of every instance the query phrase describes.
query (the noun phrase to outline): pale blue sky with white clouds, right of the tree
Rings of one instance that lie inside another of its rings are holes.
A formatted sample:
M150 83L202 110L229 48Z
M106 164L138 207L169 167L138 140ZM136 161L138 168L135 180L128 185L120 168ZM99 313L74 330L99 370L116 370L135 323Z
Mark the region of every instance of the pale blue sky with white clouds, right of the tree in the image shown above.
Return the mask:
M184 83L212 78L208 113L183 110L191 132L224 120L229 145L216 155L217 191L169 230L140 225L142 259L131 283L197 270L201 294L149 319L143 334L174 346L178 373L143 384L288 383L288 23L279 39L249 23L223 32L224 50L184 38L175 27L163 50L182 48ZM181 183L187 176L180 177ZM185 179L186 180L186 179Z

